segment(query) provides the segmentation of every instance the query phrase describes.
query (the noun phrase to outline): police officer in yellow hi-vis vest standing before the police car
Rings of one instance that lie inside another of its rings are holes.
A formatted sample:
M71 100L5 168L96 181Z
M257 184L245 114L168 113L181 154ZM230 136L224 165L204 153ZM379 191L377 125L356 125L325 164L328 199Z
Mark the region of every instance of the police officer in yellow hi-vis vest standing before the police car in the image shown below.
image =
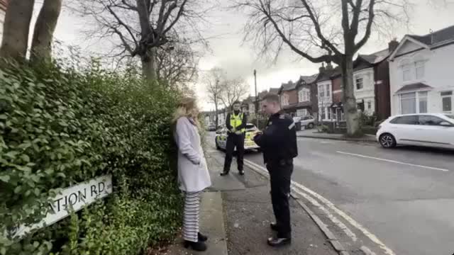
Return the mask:
M241 103L236 101L233 103L233 113L228 113L226 118L226 126L228 129L227 145L226 145L226 159L224 162L224 169L221 176L225 176L230 171L232 164L233 150L236 147L236 159L238 164L238 171L240 175L244 175L243 170L243 156L244 156L244 136L247 118L245 113L241 112Z

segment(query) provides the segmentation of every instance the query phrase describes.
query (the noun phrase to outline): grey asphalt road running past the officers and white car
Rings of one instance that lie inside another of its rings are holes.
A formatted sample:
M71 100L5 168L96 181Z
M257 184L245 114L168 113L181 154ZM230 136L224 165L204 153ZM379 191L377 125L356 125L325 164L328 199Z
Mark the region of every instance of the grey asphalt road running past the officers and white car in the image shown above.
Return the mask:
M453 254L454 152L301 137L298 146L292 179L336 206L324 220L351 229L335 231L345 242L376 254ZM263 166L259 153L245 159Z

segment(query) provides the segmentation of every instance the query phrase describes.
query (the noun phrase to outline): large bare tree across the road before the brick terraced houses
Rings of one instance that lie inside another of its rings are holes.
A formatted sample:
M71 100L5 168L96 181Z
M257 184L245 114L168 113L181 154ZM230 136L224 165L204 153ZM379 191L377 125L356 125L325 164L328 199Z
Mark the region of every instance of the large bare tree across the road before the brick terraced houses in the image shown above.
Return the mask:
M407 0L236 0L235 7L248 11L244 39L261 54L277 57L285 46L311 62L341 66L348 135L357 134L353 57L372 31L408 18Z

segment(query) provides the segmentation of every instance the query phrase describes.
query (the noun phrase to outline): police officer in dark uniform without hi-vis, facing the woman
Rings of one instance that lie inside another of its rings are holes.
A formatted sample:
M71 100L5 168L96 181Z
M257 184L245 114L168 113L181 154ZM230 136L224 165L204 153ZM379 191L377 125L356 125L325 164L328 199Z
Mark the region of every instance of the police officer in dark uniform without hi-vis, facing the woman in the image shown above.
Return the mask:
M291 116L282 113L279 96L267 94L263 98L262 111L270 115L262 134L254 141L263 152L263 159L270 173L271 202L276 222L271 228L277 232L270 237L270 246L282 246L292 242L290 227L289 193L293 172L293 158L298 156L297 132Z

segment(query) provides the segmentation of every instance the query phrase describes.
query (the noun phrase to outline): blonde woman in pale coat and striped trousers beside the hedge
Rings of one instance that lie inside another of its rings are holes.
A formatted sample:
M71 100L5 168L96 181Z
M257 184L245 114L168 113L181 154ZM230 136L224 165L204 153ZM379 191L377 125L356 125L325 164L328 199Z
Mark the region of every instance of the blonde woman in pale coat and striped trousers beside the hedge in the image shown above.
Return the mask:
M184 247L205 251L207 239L199 232L201 192L211 186L211 179L199 136L199 111L194 98L184 98L175 111L175 142L178 147L178 181L184 192Z

